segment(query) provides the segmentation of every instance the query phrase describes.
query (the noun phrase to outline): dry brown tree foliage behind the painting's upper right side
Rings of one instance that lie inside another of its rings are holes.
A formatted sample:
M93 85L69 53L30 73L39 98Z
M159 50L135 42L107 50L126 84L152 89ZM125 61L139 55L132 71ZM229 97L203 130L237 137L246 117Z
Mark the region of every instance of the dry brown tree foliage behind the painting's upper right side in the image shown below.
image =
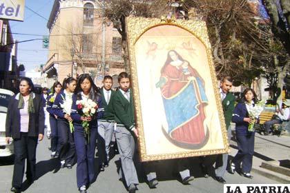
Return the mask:
M185 0L184 8L189 19L206 21L218 78L230 75L235 85L251 86L273 56L268 43L271 34L255 7L247 0Z

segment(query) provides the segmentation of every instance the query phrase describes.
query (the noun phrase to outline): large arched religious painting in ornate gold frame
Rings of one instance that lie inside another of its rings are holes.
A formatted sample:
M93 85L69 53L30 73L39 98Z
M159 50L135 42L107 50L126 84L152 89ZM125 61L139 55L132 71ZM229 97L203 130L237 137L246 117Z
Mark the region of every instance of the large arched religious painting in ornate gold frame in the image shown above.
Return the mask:
M141 161L229 152L204 21L126 18Z

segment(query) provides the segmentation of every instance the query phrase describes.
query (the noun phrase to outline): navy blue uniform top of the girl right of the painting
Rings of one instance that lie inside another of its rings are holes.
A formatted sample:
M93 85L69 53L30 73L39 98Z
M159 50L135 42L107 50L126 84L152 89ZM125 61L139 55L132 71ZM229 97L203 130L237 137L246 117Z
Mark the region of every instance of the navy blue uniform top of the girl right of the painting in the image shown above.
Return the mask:
M231 121L235 123L235 132L237 134L249 134L249 123L244 121L245 117L249 118L249 112L247 110L246 104L238 103L235 105L235 110L233 110L233 117L231 118Z

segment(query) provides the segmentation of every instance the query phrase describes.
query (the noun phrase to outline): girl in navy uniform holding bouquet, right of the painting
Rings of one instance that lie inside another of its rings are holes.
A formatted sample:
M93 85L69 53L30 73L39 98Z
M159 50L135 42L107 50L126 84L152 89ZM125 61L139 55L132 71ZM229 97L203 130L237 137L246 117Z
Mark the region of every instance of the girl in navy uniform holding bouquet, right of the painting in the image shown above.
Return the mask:
M255 145L255 132L248 130L249 123L253 123L253 119L249 118L249 108L253 107L257 102L257 95L251 88L247 88L243 92L243 98L240 103L235 106L231 121L235 123L235 135L238 143L238 153L230 162L231 174L235 173L235 167L242 163L242 174L252 179L251 168L253 162L253 152Z

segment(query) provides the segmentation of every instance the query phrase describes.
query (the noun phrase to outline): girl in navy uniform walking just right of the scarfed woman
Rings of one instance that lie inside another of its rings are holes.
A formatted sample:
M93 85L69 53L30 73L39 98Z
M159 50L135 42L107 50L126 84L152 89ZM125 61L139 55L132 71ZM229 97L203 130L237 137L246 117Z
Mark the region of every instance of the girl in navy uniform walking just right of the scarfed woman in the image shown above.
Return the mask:
M59 156L59 136L58 136L58 128L57 128L57 115L53 111L52 105L55 102L55 98L57 94L61 92L61 83L59 81L55 82L52 85L52 93L47 97L46 100L46 110L49 113L49 122L50 122L50 147L51 147L51 158L58 158Z

